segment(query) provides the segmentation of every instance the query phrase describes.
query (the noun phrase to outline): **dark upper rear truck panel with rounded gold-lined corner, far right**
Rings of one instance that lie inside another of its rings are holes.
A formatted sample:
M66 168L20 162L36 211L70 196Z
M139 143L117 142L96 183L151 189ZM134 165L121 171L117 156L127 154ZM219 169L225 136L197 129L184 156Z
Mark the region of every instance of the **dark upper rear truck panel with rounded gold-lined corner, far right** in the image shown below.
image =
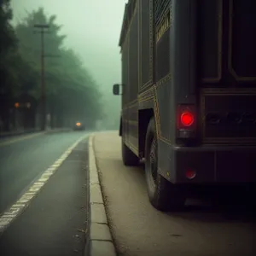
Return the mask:
M256 1L230 0L230 73L256 82ZM255 83L254 83L255 85Z

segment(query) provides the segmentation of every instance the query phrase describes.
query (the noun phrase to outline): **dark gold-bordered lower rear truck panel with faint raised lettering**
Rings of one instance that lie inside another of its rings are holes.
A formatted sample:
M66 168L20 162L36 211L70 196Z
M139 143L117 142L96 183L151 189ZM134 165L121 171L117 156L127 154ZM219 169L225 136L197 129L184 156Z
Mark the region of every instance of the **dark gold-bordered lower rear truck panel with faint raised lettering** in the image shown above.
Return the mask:
M203 140L256 143L256 94L253 90L203 91ZM218 102L218 104L216 104Z

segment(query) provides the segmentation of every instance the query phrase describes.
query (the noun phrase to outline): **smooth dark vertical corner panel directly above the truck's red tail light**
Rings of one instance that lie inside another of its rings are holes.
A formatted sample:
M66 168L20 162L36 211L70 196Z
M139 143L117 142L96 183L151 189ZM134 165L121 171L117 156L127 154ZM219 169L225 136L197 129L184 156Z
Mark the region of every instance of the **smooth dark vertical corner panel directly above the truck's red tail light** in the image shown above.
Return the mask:
M176 104L195 104L197 85L197 1L172 0L171 73ZM175 115L175 109L173 109Z

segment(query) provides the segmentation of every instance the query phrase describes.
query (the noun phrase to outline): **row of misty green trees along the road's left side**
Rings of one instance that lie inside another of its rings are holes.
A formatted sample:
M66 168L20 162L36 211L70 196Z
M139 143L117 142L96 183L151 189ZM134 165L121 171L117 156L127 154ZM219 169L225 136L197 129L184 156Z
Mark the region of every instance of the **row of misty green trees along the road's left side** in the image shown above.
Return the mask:
M46 106L52 126L63 125L64 119L86 120L93 124L102 119L102 95L96 81L84 67L79 55L64 46L66 35L56 15L45 15L39 8L11 26L10 0L0 3L0 122L9 131L15 108L33 108L38 113L41 96L41 40L35 24L47 24L44 35ZM26 106L19 103L33 99ZM28 111L28 110L27 110ZM24 115L26 110L21 111ZM35 113L34 112L34 113ZM55 118L54 118L55 117ZM34 124L34 122L33 122Z

